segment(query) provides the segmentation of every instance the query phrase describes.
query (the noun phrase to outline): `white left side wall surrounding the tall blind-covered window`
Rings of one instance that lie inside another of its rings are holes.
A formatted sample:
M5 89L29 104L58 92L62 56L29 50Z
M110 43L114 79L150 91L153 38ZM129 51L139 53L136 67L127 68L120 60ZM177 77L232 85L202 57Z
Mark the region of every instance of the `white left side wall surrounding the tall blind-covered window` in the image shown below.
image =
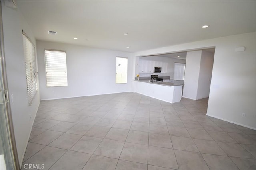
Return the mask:
M13 102L10 102L10 107L18 159L21 166L40 103L40 93L38 91L32 106L28 106L22 30L26 32L34 44L36 44L36 41L18 9L2 5L2 17L9 98L11 99L11 95L13 95ZM32 119L30 119L30 114Z

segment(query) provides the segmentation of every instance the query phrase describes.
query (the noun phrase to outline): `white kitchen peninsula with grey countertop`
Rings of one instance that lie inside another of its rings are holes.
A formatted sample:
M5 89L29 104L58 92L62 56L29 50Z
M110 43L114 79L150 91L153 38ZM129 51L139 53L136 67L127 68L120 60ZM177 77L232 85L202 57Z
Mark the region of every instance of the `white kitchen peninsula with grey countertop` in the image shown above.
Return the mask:
M150 82L149 79L133 80L133 92L143 94L152 98L163 100L169 103L180 102L182 97L181 82Z

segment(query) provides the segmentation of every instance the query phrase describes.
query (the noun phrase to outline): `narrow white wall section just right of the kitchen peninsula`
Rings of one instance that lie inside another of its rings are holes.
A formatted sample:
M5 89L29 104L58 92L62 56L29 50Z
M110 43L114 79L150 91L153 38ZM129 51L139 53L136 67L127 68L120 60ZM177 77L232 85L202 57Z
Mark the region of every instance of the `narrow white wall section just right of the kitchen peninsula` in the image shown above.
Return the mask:
M196 100L202 50L188 51L184 76L183 97Z

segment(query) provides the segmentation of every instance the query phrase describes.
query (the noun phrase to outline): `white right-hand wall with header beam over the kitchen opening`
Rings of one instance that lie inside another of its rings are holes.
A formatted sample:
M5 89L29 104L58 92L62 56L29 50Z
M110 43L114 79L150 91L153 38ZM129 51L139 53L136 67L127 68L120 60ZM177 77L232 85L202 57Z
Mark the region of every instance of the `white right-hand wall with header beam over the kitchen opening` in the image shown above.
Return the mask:
M256 129L255 42L256 33L252 32L140 51L135 56L215 47L207 115ZM235 52L241 46L245 51ZM241 117L242 113L246 117Z

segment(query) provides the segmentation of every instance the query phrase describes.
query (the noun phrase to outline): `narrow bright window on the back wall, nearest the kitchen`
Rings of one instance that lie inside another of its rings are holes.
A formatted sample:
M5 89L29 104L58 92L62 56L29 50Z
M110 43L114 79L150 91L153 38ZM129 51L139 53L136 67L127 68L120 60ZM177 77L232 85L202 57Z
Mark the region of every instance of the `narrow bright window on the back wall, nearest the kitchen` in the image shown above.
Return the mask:
M116 57L116 84L127 83L128 59Z

